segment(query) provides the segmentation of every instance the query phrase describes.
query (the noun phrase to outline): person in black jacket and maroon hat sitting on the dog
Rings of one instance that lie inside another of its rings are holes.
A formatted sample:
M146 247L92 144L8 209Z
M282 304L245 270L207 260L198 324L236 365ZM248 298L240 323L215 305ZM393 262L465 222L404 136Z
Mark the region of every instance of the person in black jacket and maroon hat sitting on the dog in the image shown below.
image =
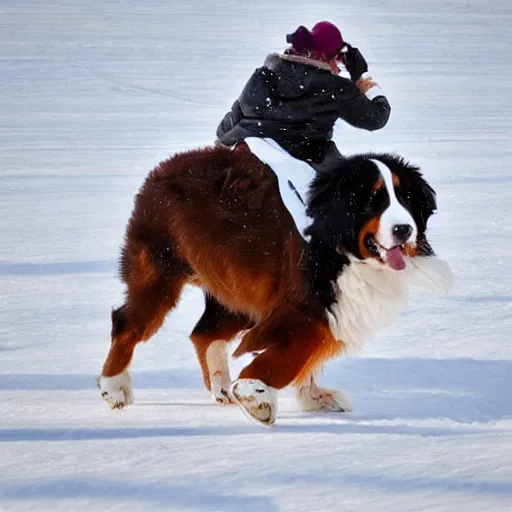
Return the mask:
M378 130L391 107L361 52L334 24L321 21L311 31L300 26L286 40L290 47L268 55L249 78L217 128L217 143L270 138L316 170L331 167L343 158L332 141L335 122ZM340 66L350 79L339 75Z

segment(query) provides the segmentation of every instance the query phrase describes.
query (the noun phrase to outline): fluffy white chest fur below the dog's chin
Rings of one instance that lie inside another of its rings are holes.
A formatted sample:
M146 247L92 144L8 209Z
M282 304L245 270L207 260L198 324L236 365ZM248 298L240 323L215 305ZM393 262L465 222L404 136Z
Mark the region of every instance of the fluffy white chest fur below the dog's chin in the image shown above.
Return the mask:
M435 256L406 258L402 271L350 259L334 285L338 300L328 312L333 335L349 348L360 346L365 337L393 321L406 305L411 284L436 292L446 292L452 285L448 264Z

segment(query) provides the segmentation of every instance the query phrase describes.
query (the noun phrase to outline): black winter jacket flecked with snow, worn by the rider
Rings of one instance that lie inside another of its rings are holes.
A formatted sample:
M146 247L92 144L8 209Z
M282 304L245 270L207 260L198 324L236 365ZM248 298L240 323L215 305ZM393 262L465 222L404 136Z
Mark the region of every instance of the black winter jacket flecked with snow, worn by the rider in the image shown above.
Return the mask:
M269 55L217 128L219 142L268 137L296 158L320 162L334 123L377 130L389 119L384 96L370 100L348 78L308 61Z

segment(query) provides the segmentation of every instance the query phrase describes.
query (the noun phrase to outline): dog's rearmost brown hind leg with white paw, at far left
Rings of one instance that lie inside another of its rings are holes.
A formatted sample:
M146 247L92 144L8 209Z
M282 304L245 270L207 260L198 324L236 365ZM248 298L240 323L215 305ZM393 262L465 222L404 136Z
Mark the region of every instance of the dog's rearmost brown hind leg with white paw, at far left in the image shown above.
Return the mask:
M162 265L145 246L123 253L126 302L112 312L110 351L98 379L101 394L112 408L132 403L128 366L135 345L158 331L187 280L187 274L170 263Z

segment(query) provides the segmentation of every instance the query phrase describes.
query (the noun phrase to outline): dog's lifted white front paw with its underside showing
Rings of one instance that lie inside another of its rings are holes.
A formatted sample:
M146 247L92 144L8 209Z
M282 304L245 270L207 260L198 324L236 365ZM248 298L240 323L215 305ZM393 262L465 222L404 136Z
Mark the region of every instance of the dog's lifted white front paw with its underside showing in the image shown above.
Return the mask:
M258 379L238 379L231 395L242 411L257 423L272 425L276 420L277 390Z

